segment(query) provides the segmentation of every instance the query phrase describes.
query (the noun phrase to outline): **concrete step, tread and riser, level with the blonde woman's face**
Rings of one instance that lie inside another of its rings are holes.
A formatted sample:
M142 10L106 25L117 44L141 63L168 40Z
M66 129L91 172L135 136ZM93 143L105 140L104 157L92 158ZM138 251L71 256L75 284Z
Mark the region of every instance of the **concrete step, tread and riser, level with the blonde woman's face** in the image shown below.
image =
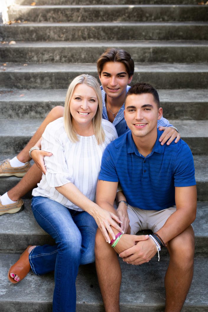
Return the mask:
M167 119L207 120L207 89L158 90ZM66 89L2 89L0 119L43 119L57 105L64 105Z

